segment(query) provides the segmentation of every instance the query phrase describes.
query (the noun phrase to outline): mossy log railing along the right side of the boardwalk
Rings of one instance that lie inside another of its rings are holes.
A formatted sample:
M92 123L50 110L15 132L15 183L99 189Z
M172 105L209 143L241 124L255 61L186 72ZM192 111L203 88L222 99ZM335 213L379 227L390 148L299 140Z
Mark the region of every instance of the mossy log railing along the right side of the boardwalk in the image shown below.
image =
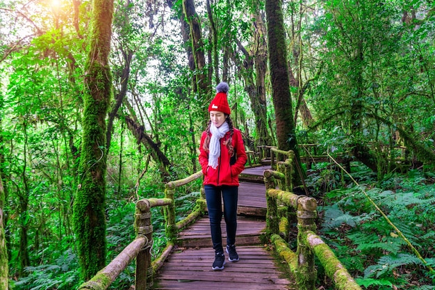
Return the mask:
M285 161L277 162L277 170L265 170L266 186L266 232L274 243L277 253L286 260L290 272L295 277L299 290L314 290L317 280L315 257L325 268L325 273L339 290L361 290L358 284L338 261L331 248L315 234L317 201L305 195L291 193L291 174L293 172L292 152L272 148L273 154L287 155ZM277 189L277 186L280 189ZM288 233L292 221L297 221L297 250L288 247Z

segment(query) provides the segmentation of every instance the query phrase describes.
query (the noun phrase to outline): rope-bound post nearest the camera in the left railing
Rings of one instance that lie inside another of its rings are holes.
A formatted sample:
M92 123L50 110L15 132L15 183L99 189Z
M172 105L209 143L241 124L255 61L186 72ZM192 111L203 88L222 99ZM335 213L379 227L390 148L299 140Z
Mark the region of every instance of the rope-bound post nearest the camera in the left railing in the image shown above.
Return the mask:
M153 286L151 266L152 233L151 204L148 200L136 203L135 231L137 236L145 236L147 243L136 257L136 290L148 290Z

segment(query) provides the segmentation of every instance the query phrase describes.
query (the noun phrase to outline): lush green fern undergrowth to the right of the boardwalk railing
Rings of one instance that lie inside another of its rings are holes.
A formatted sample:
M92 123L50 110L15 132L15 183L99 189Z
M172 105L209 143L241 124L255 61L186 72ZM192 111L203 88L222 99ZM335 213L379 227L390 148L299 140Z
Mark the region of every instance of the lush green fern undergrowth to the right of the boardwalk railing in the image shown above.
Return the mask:
M366 179L366 181L369 181ZM384 186L381 187L375 187ZM420 252L425 263L373 207L377 204ZM435 289L435 186L422 172L373 179L364 188L347 186L325 194L320 232L364 289ZM321 271L320 271L321 272Z

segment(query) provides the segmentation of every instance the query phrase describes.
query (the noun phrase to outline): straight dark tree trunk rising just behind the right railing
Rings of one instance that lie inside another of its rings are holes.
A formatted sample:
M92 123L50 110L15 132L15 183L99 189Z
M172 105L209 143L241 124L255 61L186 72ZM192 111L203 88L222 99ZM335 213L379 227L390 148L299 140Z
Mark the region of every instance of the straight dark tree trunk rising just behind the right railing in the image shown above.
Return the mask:
M295 161L300 164L288 78L282 1L266 0L265 3L268 20L270 81L272 82L272 99L277 123L278 147L280 150L293 150ZM297 178L294 182L295 185L299 185L300 179Z

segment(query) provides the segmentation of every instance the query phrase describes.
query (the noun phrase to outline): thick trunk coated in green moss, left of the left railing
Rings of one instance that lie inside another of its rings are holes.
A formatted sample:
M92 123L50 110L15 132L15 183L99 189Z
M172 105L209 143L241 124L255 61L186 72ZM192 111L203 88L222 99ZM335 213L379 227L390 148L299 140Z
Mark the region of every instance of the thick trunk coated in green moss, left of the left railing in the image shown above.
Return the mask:
M85 65L81 161L73 216L85 280L106 264L106 116L113 93L108 63L113 1L95 0L92 3L90 51Z

